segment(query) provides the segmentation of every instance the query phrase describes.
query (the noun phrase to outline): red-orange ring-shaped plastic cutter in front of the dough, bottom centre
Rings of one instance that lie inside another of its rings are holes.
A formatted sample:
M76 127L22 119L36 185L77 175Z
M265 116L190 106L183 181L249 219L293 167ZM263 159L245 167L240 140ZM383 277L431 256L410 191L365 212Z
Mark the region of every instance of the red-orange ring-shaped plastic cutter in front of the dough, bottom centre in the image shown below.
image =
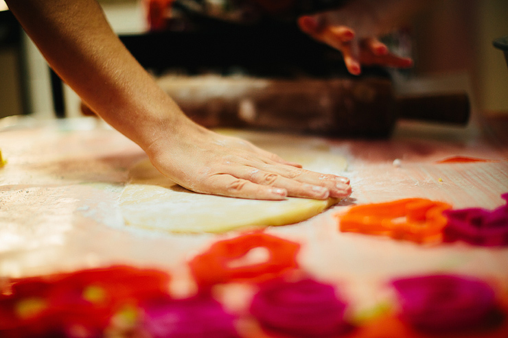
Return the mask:
M259 247L268 249L268 261L230 266L231 262ZM213 243L207 252L194 257L189 267L200 287L224 282L264 282L297 268L299 249L299 243L254 232Z

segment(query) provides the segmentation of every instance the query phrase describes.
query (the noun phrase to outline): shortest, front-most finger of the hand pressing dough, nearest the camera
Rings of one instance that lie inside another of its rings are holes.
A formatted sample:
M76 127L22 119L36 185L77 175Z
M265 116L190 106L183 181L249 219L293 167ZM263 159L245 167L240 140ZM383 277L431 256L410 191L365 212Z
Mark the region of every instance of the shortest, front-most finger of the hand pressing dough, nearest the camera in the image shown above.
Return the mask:
M194 191L252 200L285 200L288 195L286 189L256 184L229 174L210 176L203 182L200 188L194 189Z

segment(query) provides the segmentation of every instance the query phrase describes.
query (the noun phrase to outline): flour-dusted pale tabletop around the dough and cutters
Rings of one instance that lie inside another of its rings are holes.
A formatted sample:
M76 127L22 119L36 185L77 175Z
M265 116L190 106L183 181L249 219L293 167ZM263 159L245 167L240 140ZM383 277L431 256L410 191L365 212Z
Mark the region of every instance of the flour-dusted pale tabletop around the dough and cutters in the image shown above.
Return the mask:
M0 276L20 277L117 263L158 267L185 295L187 261L219 239L238 235L170 234L132 229L119 212L128 168L145 158L137 145L95 119L3 121L0 149ZM480 128L400 125L389 140L327 139L349 162L352 195L308 221L269 234L302 243L299 263L316 278L347 282L358 306L378 299L376 281L436 271L504 281L508 249L464 243L428 247L343 233L332 215L355 204L424 197L454 208L496 208L508 192L508 143ZM450 156L496 162L437 164ZM503 160L505 159L505 160ZM395 160L395 162L394 162Z

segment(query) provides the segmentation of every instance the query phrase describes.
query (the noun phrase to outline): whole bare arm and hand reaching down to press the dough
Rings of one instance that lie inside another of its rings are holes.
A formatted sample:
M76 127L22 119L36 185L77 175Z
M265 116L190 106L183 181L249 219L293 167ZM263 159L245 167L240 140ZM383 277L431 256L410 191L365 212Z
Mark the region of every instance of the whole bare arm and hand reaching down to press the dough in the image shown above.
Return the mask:
M347 178L301 169L188 119L124 47L95 0L6 3L62 80L181 186L264 200L351 193Z

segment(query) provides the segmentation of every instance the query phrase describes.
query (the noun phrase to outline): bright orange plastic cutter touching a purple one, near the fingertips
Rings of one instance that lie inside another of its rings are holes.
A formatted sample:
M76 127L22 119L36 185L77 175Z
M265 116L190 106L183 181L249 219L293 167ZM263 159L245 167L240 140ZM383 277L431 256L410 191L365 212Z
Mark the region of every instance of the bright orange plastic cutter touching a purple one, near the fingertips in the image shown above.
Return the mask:
M340 231L385 235L417 243L441 241L447 219L444 210L450 204L406 198L392 202L353 206L345 214L337 214Z

